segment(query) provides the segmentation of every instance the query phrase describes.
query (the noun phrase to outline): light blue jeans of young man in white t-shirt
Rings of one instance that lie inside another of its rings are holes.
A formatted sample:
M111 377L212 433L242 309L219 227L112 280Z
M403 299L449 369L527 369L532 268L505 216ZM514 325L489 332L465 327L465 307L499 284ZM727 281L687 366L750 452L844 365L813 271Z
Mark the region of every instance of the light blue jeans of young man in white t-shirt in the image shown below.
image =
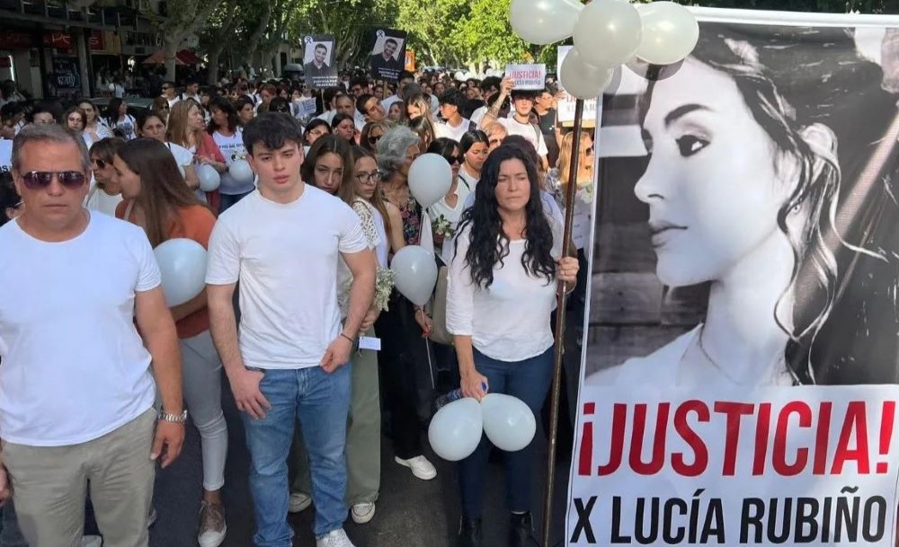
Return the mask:
M320 366L266 370L259 389L271 404L263 419L242 413L250 451L250 491L253 493L256 547L290 547L293 529L287 523L289 487L287 457L295 420L302 426L309 454L312 498L316 502L316 538L343 527L347 507L346 419L350 410L347 363L332 374Z

